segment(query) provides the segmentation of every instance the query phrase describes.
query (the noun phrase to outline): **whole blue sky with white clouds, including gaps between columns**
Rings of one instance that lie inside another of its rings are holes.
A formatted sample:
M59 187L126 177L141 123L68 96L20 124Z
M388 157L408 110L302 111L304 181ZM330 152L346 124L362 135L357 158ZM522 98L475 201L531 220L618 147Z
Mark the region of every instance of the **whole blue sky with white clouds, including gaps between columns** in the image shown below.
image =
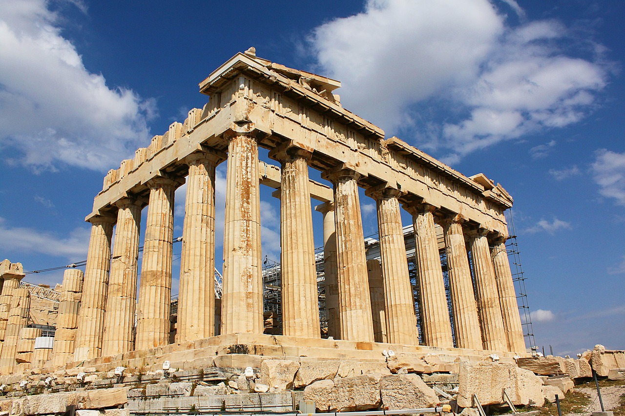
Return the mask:
M84 216L106 171L202 107L198 82L255 46L342 81L342 105L387 137L501 182L515 200L538 345L625 347L622 1L232 4L0 3L0 257L27 270L85 259ZM177 196L176 236L184 187ZM363 195L362 207L372 234L374 203ZM279 260L269 189L262 221L264 255ZM314 225L319 246L321 214ZM218 264L221 239L220 229Z

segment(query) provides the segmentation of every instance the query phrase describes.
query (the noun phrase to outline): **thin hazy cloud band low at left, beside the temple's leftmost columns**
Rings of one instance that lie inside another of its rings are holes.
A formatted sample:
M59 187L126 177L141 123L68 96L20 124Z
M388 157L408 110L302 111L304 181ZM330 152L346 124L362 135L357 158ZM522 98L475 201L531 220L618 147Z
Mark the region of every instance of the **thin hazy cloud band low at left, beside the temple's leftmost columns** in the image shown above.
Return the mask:
M87 258L89 227L79 227L66 237L26 227L8 227L0 218L0 249L13 253L40 253L58 255L76 262Z

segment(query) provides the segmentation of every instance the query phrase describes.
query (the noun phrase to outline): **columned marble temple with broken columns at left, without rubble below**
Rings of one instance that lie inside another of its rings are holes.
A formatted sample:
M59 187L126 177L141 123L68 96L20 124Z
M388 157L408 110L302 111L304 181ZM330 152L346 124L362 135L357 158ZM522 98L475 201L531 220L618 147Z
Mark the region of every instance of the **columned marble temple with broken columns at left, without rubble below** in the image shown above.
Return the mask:
M210 349L213 360L230 355L231 367L246 367L245 355L373 360L393 350L527 356L505 245L504 211L512 197L484 174L464 176L397 137L386 138L341 106L333 93L340 86L261 59L252 48L200 82L199 91L209 96L202 109L189 111L184 122L171 124L104 177L86 217L91 239L84 275L66 271L53 342L39 341L41 329L29 328L31 294L19 287L21 264L2 262L0 372L139 367L137 360L149 366L154 362L146 357L192 361L202 357L184 354L202 349ZM259 147L276 166L259 161ZM226 214L217 298L215 187L222 162ZM312 181L310 168L332 186ZM174 335L174 191L185 182ZM280 201L280 334L264 334L261 186L276 189ZM379 260L367 260L360 188L376 201ZM412 215L416 285L402 210ZM321 283L313 215L323 224ZM42 349L47 353L39 358L19 360Z

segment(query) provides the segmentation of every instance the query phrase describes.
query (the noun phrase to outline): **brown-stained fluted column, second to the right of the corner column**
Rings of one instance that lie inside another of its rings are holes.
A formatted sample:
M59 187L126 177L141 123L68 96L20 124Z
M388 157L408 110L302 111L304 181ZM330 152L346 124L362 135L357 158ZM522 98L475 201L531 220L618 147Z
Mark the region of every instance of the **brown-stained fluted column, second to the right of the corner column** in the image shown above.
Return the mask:
M326 172L334 184L337 282L341 339L373 342L373 320L367 278L367 260L358 196L360 174L350 169Z

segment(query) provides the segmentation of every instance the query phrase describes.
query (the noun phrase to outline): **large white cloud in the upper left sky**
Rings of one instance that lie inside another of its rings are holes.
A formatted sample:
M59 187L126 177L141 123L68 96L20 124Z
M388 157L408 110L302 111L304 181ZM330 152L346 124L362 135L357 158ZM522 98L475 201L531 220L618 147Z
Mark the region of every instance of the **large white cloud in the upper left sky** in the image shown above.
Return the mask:
M83 2L73 4L86 11ZM0 2L4 159L36 171L63 164L117 167L148 142L154 101L111 88L102 74L89 72L47 6L46 0Z

